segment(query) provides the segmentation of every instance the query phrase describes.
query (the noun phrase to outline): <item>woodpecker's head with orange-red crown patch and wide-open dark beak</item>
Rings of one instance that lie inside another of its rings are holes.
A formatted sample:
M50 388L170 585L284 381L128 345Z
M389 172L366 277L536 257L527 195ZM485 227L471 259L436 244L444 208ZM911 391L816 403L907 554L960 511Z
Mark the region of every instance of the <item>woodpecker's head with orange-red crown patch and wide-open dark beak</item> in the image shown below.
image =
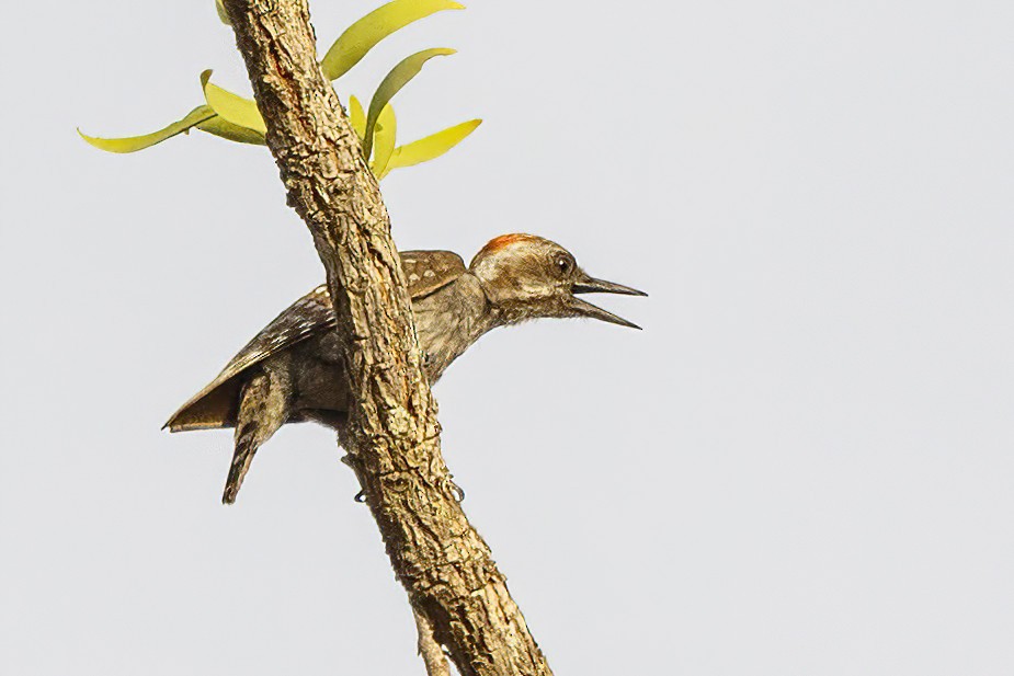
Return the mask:
M622 317L578 298L578 294L647 296L627 286L589 276L573 254L534 234L503 234L472 259L469 271L482 284L490 303L509 321L540 317L590 317L639 329Z

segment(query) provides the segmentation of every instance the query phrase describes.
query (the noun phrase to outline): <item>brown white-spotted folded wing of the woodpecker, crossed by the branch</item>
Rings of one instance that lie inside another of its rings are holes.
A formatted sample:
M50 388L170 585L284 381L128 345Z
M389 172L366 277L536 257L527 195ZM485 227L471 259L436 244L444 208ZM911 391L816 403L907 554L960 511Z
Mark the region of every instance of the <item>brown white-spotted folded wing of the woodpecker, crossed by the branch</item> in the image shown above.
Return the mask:
M465 273L465 262L451 251L406 251L401 253L401 265L413 300L440 290ZM258 333L217 378L169 419L166 427L185 432L235 425L243 373L318 332L330 331L334 324L331 296L327 285L320 285Z

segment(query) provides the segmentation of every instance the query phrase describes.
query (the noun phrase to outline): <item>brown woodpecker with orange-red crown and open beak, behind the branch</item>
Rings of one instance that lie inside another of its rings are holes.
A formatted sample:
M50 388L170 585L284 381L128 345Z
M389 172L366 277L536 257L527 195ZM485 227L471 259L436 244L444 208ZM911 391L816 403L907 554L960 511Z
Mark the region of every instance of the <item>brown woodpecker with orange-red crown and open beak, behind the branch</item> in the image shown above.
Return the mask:
M639 329L578 294L646 296L595 279L573 255L533 234L504 234L465 262L449 251L400 253L423 367L436 382L482 334L537 318L590 317ZM231 504L258 448L286 423L335 429L351 393L327 285L297 300L264 328L166 423L171 432L235 427L232 463L221 502Z

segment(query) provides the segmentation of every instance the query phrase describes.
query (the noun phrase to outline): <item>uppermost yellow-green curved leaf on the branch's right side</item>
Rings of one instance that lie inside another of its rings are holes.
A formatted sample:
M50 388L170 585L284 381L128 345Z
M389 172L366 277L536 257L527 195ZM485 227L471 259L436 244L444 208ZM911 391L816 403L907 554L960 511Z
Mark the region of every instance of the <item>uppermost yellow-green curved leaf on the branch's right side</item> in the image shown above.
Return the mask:
M339 36L320 66L329 80L337 80L358 64L381 39L414 21L443 10L464 10L451 0L395 0L366 14Z

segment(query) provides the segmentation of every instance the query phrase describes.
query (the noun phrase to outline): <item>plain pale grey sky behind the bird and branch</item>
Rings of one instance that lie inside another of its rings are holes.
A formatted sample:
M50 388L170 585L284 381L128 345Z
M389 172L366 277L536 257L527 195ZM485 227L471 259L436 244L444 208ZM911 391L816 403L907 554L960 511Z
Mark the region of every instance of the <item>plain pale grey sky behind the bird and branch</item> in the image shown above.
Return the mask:
M375 2L315 0L326 47ZM1014 673L1014 5L491 2L348 78L452 156L385 183L402 248L532 231L649 299L436 389L444 449L557 674ZM267 152L110 156L216 69L212 0L14 3L0 43L0 672L420 674L330 433L233 508L166 417L321 277Z

